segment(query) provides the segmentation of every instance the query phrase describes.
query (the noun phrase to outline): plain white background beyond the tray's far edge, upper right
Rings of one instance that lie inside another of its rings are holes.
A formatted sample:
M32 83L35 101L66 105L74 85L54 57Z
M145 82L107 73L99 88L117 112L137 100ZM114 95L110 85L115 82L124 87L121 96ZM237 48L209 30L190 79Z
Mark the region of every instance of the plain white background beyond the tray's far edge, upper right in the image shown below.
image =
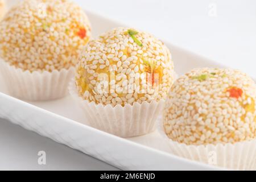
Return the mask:
M255 0L76 2L256 78Z

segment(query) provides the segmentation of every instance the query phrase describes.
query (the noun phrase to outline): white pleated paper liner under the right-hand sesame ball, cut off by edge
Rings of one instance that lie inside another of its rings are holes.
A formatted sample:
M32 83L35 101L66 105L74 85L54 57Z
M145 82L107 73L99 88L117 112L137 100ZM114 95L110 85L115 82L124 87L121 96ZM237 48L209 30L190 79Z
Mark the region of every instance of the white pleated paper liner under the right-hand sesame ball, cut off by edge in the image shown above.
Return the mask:
M177 156L234 170L256 169L256 139L235 144L187 145L168 138L162 121L158 125L159 133Z

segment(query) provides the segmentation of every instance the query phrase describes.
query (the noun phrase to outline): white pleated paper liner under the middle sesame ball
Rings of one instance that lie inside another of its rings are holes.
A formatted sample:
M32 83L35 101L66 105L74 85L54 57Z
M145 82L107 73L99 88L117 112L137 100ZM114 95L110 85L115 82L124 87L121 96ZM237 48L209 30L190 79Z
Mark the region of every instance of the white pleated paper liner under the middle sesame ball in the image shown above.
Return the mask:
M123 138L145 135L154 131L156 119L164 107L164 100L115 107L96 105L95 102L88 102L79 97L74 80L69 85L69 93L84 111L85 122L88 125Z

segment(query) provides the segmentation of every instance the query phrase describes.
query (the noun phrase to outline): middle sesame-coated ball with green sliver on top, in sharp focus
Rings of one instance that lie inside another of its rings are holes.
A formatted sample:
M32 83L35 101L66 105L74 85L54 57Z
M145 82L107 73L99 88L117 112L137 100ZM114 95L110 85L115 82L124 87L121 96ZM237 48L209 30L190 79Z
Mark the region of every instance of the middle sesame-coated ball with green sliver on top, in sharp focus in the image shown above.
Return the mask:
M173 73L171 53L160 40L120 27L88 43L77 65L76 85L84 100L133 105L166 98Z

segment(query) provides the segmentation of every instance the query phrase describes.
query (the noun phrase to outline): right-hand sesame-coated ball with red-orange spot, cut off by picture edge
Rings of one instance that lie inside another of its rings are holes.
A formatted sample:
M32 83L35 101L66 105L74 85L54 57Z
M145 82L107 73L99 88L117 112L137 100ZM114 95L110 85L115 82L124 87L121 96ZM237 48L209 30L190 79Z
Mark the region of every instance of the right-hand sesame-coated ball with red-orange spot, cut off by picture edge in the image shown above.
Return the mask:
M245 73L193 69L168 94L164 131L173 141L193 145L255 139L255 94L255 83Z

